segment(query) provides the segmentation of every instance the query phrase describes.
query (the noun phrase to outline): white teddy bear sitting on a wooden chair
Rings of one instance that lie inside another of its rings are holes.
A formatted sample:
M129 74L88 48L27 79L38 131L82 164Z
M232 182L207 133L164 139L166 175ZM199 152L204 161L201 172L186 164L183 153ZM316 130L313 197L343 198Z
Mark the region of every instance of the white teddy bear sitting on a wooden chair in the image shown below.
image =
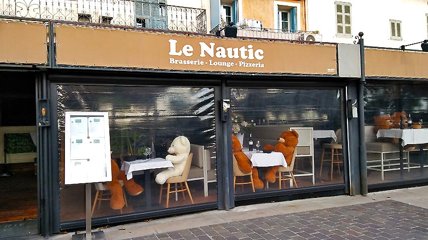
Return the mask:
M168 153L174 155L167 155L166 160L171 161L174 169L164 170L156 175L156 182L164 184L170 177L176 177L183 174L184 166L186 165L187 158L190 154L190 142L184 136L175 138L171 147L168 148Z

